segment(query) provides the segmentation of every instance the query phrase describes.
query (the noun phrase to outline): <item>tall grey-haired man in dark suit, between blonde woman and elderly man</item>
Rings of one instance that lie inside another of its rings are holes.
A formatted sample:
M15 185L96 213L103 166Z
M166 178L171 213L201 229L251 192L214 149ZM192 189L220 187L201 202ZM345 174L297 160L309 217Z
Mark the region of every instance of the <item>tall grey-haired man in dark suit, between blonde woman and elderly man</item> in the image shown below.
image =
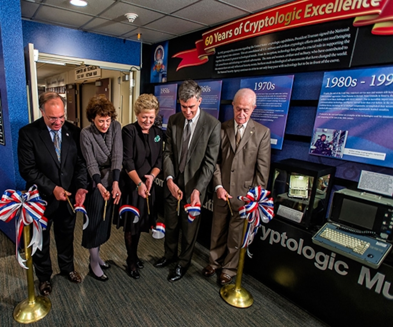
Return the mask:
M202 89L191 80L179 87L182 112L169 117L163 153L165 205L165 255L154 266L161 268L171 262L176 267L168 275L169 281L182 278L191 264L200 216L190 223L184 205L204 201L206 188L213 175L220 148L220 122L200 110ZM177 212L180 199L180 213ZM178 256L179 231L182 246Z

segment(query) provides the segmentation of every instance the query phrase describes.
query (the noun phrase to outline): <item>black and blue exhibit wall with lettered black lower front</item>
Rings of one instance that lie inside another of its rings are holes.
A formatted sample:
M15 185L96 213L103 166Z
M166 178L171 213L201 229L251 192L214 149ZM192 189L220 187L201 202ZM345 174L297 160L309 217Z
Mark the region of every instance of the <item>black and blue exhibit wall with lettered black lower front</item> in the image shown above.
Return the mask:
M393 65L393 35L373 35L372 27L356 28L353 19L346 19L270 33L220 46L203 65L176 71L181 59L173 55L195 48L204 31L191 33L169 40L167 83L222 80L219 120L224 122L233 118L231 102L242 78L294 74L283 148L272 150L272 163L294 158L334 166L332 191L356 189L362 170L393 175L393 167L310 155L309 149L324 72ZM150 67L150 57L144 52L145 68ZM142 78L149 76L143 74ZM154 84L144 81L142 85L143 92L154 91ZM162 177L156 184L162 192ZM207 248L211 192L203 203L198 235L198 242ZM162 203L156 205L162 208ZM330 325L391 324L393 255L378 270L368 268L313 244L316 229L318 226L305 229L274 218L255 236L250 247L253 258L246 259L245 271Z

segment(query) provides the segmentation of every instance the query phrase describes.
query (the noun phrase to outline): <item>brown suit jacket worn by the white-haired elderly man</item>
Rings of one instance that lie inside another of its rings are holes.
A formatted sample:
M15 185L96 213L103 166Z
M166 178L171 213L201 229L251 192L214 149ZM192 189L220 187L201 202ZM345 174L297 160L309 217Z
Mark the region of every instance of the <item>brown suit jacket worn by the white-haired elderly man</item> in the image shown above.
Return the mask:
M244 203L237 196L245 196L251 187L266 188L270 169L270 129L250 118L235 151L234 120L221 125L221 151L213 175L213 185L222 185L233 196L231 207L238 210ZM225 205L218 200L214 205Z

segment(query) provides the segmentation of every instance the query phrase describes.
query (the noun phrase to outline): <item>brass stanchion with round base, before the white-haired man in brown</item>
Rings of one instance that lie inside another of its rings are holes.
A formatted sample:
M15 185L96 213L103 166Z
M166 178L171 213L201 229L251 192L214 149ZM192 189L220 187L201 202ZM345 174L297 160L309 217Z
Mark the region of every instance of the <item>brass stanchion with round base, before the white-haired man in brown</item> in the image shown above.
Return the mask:
M244 240L244 235L246 235L247 224L248 224L247 219L244 219L242 240ZM237 308L248 308L254 302L252 295L245 288L241 287L245 256L246 256L246 248L241 248L235 285L233 284L224 285L220 290L221 297L227 303Z

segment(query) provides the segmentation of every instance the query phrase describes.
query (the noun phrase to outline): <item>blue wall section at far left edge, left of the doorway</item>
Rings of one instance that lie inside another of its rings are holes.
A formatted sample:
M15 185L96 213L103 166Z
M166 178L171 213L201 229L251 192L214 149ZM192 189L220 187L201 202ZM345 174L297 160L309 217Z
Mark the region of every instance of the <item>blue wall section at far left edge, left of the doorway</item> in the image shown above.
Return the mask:
M24 189L17 167L18 130L28 123L26 77L19 0L0 0L0 95L6 145L0 145L0 192ZM0 222L15 240L15 225Z

